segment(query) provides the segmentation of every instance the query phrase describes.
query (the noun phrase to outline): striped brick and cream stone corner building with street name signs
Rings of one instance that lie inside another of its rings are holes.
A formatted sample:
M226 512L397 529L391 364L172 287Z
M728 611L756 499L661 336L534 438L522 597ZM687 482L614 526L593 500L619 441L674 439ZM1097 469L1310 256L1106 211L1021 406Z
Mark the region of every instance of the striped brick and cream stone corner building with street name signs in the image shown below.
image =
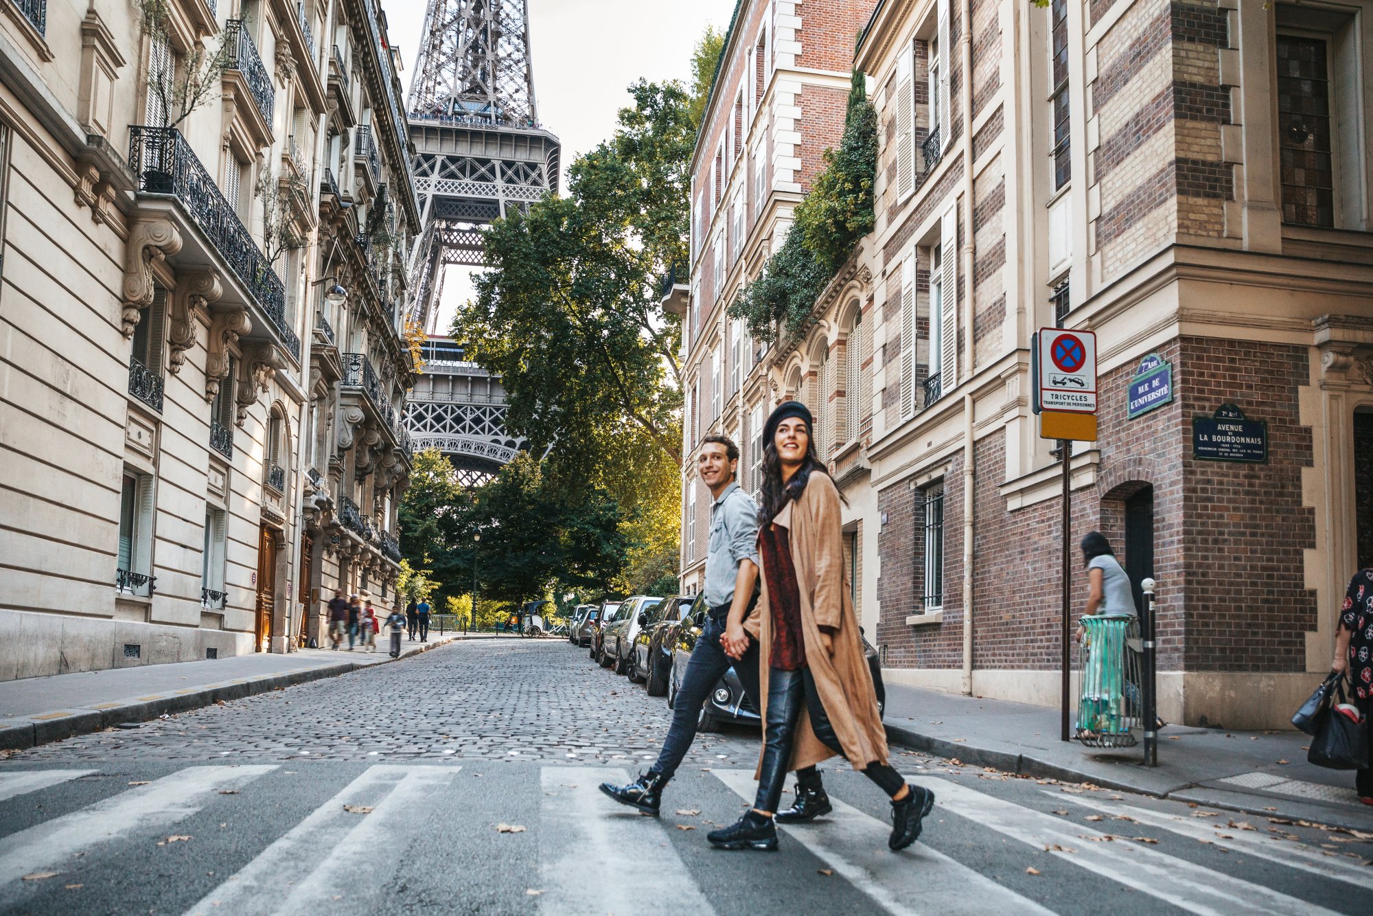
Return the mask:
M1076 328L1100 431L1072 541L1157 580L1162 715L1284 725L1373 562L1373 4L873 5L876 227L743 386L821 417L887 677L1057 703L1030 349Z

